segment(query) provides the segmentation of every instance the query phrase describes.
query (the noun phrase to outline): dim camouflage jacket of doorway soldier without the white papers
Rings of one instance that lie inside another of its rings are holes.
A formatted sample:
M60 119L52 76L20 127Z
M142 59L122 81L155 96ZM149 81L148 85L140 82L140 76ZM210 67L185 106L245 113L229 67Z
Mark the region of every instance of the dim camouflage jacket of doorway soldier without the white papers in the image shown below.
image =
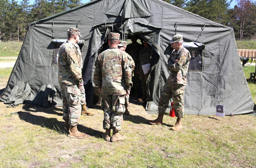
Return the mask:
M128 53L132 59L134 60L135 67L140 66L140 61L139 61L139 51L144 48L142 44L136 43L135 45L133 43L128 44L126 46L125 52Z

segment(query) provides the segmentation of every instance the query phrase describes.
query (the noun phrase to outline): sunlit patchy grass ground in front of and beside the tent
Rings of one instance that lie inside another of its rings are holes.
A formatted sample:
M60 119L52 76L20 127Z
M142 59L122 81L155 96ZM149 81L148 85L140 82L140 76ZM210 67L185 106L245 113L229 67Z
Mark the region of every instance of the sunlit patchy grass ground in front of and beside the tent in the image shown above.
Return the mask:
M12 68L0 68L3 92ZM249 81L254 66L245 66ZM249 88L256 102L255 84ZM170 127L176 118L164 116L164 125L149 125L157 115L149 115L131 95L131 115L124 116L120 133L127 139L106 142L101 138L103 112L81 116L78 130L85 139L63 134L61 107L30 104L6 108L0 102L0 167L256 167L256 117L185 114L183 129ZM10 114L18 112L17 115Z

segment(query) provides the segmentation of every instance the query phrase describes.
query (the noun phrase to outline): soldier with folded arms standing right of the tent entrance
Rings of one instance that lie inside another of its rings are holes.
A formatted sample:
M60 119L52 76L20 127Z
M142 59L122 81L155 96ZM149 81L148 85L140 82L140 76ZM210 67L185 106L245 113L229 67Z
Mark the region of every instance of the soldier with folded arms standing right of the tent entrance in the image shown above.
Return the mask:
M171 73L164 84L163 93L158 102L158 117L153 121L149 121L149 123L153 125L163 124L164 113L168 107L169 100L173 97L173 108L177 121L171 130L178 131L182 129L181 119L184 113L183 93L187 85L186 74L191 56L189 51L182 45L183 36L181 34L173 36L170 43L174 48L167 64L167 68Z

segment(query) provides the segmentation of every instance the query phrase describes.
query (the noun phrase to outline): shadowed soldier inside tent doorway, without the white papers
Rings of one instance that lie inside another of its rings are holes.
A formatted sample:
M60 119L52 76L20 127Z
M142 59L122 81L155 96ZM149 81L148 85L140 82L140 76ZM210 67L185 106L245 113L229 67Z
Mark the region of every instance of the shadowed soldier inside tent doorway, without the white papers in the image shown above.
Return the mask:
M140 67L140 61L139 61L139 51L144 47L142 44L137 43L137 37L133 36L131 39L132 43L128 44L126 46L125 52L128 53L135 62L135 67ZM140 79L139 74L137 71L133 71L134 75L134 82L133 82L133 88L135 91L135 95L140 98L140 92L139 92L139 86L140 86Z

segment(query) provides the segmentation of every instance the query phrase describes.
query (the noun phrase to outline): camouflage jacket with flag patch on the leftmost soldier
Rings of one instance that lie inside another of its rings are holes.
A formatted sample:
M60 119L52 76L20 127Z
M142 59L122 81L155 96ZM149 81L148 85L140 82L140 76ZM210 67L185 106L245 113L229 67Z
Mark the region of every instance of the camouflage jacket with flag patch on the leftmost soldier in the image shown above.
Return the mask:
M58 54L58 79L60 84L74 85L82 83L82 59L79 46L68 40L60 46Z

